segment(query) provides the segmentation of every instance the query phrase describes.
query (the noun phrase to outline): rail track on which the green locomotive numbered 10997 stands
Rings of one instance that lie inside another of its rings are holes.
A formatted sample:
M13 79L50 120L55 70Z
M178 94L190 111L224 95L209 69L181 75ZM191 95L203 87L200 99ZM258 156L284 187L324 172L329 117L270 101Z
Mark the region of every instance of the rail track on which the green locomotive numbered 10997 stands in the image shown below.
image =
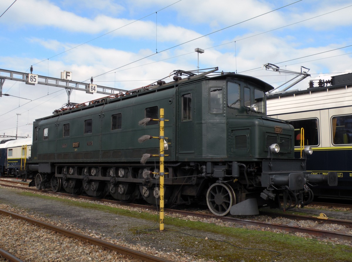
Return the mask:
M0 179L1 180L1 179ZM14 183L19 183L19 181L15 181ZM6 184L1 184L9 187L9 185ZM18 188L18 186L12 185L11 187ZM21 189L24 189L23 187L20 187ZM114 203L118 205L124 205L124 206L131 206L131 207L138 207L142 209L149 209L149 210L154 210L157 211L157 208L152 207L152 206L146 206L146 205L138 205L138 204L132 204L132 203L122 203L118 202L115 200L106 200L106 199L95 199L92 197L87 197L87 196L76 196L76 195L71 195L71 194L66 194L66 193L55 193L52 191L47 191L47 190L37 190L34 188L25 188L29 189L31 191L41 191L45 192L48 194L56 194L56 195L63 195L63 196L69 196L69 197L75 197L75 198L80 198L80 199L88 199L88 200L93 200L93 201L99 201L99 202L106 202L106 203ZM241 225L251 225L251 226L257 226L257 227L262 227L264 229L276 229L276 230L283 230L283 231L288 231L291 233L304 233L308 234L311 236L315 237L321 237L321 238L338 238L338 239L344 239L347 241L352 242L352 220L341 220L341 219L331 219L331 218L325 218L325 217L310 217L310 216L304 216L304 215L294 215L294 214L274 214L274 213L265 213L263 212L263 215L269 216L269 217L285 217L288 218L292 221L301 221L301 220L309 220L314 223L312 227L302 227L299 225L288 225L288 224L278 224L278 223L270 223L266 221L258 221L255 220L255 217L253 219L243 219L243 218L237 218L237 217L218 217L212 213L203 213L203 212L191 212L191 211L182 211L182 210L177 210L177 209L170 209L170 208L165 208L166 213L170 214L181 214L184 216L192 216L192 217L198 217L198 218L203 218L203 219L212 219L216 218L218 220L224 221L224 222L230 222L230 223L236 223L236 224L241 224ZM325 224L332 224L336 225L339 227L342 227L339 232L337 231L329 231L329 230L322 230L318 229L318 227L322 227L322 225Z

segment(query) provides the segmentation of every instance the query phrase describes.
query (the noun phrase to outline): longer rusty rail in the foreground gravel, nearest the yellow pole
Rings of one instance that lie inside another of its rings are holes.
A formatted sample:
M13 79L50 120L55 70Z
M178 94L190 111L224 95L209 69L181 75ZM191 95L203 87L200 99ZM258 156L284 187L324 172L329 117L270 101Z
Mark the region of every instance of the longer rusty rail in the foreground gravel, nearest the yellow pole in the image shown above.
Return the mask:
M109 243L109 242L105 242L105 241L100 240L98 238L94 238L94 237L86 236L86 235L81 234L81 233L76 233L76 232L73 232L73 231L70 231L70 230L66 230L66 229L63 229L61 227L54 226L54 225L51 225L51 224L48 224L48 223L45 223L45 222L42 222L42 221L39 221L39 220L35 220L35 219L32 219L32 218L28 218L28 217L25 217L23 215L15 214L15 213L3 210L3 209L0 209L0 213L2 213L4 215L9 215L9 216L11 216L13 218L17 218L17 219L28 221L28 222L30 222L30 223L32 223L34 225L38 225L38 226L41 226L41 227L56 231L58 233L64 234L65 236L68 236L68 237L73 237L73 238L76 238L76 239L87 241L88 243L93 244L93 245L102 246L103 248L114 250L114 251L116 251L116 252L118 252L119 254L122 254L122 255L128 255L128 256L131 256L132 258L138 258L138 259L140 259L142 261L146 261L146 262L170 262L170 260L166 260L164 258L160 258L160 257L144 254L142 252L139 252L139 251L136 251L136 250L133 250L133 249L129 249L129 248L125 248L123 246L119 246L119 245L115 245L115 244L112 244L112 243Z

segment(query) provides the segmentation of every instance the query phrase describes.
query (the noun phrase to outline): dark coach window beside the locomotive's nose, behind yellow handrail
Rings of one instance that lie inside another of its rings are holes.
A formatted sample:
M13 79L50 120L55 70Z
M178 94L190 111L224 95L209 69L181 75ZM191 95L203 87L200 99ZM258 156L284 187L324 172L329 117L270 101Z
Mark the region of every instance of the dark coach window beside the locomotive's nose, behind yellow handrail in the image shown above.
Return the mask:
M291 120L290 124L295 128L295 146L301 146L301 128L304 129L304 146L319 145L318 119Z

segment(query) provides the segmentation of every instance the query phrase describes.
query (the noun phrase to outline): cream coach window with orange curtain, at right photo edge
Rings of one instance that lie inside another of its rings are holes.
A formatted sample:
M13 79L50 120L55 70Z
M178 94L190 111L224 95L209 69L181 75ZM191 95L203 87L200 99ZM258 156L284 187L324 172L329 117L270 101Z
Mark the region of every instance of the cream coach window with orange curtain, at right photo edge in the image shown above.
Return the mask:
M352 144L352 115L332 117L331 130L334 145Z

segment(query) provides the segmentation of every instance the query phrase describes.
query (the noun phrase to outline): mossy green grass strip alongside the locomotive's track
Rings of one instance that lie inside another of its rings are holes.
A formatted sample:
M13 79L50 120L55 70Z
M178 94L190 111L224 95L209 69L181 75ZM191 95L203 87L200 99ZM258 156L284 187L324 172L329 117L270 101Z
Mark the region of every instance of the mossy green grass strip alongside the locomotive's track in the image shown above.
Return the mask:
M29 192L24 196L39 197L65 203L65 205L89 208L112 214L158 221L158 216L147 212L130 211L109 207L98 203L78 202L53 196L37 195ZM306 261L306 262L347 262L352 261L352 248L346 245L333 245L316 239L296 237L285 233L247 230L165 217L165 230L147 230L137 225L129 230L136 239L154 243L160 248L179 249L180 255L187 253L211 261ZM207 239L206 239L207 238ZM165 246L170 243L172 246Z

